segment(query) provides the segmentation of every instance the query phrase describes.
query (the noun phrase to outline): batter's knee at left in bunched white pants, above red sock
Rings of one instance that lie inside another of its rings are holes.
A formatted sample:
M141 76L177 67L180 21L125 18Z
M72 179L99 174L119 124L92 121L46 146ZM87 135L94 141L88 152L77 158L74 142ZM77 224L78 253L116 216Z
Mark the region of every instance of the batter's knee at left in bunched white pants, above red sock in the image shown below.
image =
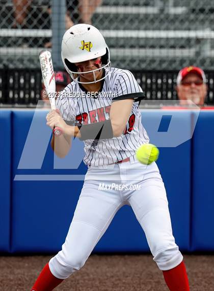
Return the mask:
M53 276L59 279L66 279L74 272L81 269L85 261L86 260L81 255L75 252L64 256L61 251L49 261L49 267Z

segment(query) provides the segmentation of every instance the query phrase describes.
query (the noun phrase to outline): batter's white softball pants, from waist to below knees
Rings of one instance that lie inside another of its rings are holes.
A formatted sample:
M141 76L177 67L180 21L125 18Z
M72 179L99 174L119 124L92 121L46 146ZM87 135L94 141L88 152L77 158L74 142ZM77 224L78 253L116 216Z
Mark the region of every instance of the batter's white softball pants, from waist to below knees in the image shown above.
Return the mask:
M110 185L110 189L113 183L141 188L99 190L100 183ZM123 205L133 209L159 269L170 270L180 264L183 257L172 234L166 190L158 167L156 163L142 165L135 159L88 169L65 243L49 261L51 273L66 279L79 270Z

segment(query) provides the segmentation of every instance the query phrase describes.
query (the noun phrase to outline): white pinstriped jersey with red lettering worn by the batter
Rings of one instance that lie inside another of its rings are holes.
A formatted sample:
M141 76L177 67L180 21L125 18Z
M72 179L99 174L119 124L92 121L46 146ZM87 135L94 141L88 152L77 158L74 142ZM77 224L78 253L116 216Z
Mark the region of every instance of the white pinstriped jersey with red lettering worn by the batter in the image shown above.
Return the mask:
M139 101L144 93L135 77L129 71L117 68L103 69L103 74L107 76L101 81L99 92L91 94L82 84L73 81L65 87L56 102L64 120L91 124L108 120L111 105L116 100L134 99L126 128L120 137L84 141L84 163L89 166L103 166L126 158L131 160L139 146L149 142L139 110Z

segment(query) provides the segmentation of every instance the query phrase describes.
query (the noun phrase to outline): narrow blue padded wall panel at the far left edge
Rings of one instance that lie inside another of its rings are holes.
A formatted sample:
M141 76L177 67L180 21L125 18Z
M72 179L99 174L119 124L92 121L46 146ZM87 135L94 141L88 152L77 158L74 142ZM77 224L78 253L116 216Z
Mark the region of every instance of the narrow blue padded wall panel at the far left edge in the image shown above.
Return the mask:
M10 251L11 111L0 111L0 252Z

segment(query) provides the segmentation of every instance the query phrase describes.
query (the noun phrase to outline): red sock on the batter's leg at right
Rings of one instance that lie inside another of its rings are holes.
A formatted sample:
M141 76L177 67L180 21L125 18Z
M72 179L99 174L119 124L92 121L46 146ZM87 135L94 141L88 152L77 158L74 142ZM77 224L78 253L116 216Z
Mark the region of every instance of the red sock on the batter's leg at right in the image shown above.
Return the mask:
M190 291L184 262L171 270L163 271L163 274L170 291Z

